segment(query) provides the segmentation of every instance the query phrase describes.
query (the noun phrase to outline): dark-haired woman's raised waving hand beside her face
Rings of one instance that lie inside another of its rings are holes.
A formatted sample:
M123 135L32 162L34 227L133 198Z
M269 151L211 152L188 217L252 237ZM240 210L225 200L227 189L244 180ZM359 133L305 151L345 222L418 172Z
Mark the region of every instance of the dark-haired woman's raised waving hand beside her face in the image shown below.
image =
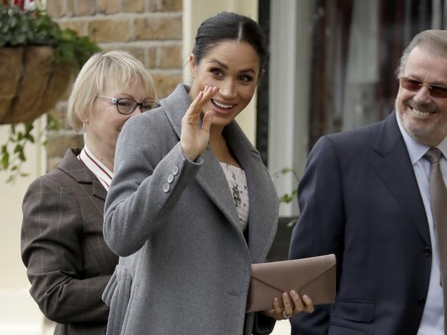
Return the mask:
M217 91L219 91L217 87L205 86L205 89L199 92L182 118L180 146L183 153L191 161L195 161L199 157L210 139L212 114L210 111L204 112L204 119L201 128L199 128L200 113L201 108L211 100Z

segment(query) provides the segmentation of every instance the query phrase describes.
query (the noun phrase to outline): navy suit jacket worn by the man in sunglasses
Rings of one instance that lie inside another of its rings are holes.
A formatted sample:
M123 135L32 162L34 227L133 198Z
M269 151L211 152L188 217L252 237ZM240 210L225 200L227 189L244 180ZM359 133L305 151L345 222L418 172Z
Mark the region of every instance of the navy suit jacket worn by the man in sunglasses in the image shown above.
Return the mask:
M336 302L291 319L292 334L416 334L431 244L395 113L322 137L298 187L290 258L335 253Z

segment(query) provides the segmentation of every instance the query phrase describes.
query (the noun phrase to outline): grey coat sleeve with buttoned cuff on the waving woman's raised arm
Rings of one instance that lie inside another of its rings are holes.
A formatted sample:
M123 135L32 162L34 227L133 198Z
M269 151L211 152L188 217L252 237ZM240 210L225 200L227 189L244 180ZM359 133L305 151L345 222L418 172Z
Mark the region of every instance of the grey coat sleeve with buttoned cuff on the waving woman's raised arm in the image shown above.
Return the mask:
M131 118L122 128L105 203L105 241L122 257L138 251L157 231L203 163L201 157L186 158L179 142L168 148L172 138L166 137L176 135L166 123L144 121Z

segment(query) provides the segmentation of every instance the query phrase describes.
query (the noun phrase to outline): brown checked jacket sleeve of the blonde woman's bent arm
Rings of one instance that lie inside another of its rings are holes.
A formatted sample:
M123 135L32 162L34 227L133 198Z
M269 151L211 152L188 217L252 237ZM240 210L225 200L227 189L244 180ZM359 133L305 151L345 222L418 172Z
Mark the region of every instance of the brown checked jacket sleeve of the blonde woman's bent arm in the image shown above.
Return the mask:
M22 209L21 254L43 314L57 323L107 322L101 294L110 276L83 279L82 217L74 195L44 176L30 185Z

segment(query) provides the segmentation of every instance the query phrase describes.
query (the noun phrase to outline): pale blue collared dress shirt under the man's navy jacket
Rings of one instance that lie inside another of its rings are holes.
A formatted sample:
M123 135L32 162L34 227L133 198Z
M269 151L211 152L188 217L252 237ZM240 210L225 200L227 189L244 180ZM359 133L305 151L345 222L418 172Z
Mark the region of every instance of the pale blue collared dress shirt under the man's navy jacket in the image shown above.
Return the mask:
M424 146L408 135L399 123L399 118L397 118L397 124L399 124L400 132L402 132L402 136L404 137L406 149L408 150L411 164L413 164L417 185L419 185L419 192L421 192L422 201L424 202L428 220L428 228L430 229L432 249L430 284L428 286L424 313L422 314L417 335L444 335L444 303L442 287L439 281L439 249L437 247L435 222L431 211L430 190L428 187L430 163L424 159L424 154L426 154L430 147ZM439 148L442 152L440 164L445 183L445 181L447 181L447 137L437 145L437 148Z

